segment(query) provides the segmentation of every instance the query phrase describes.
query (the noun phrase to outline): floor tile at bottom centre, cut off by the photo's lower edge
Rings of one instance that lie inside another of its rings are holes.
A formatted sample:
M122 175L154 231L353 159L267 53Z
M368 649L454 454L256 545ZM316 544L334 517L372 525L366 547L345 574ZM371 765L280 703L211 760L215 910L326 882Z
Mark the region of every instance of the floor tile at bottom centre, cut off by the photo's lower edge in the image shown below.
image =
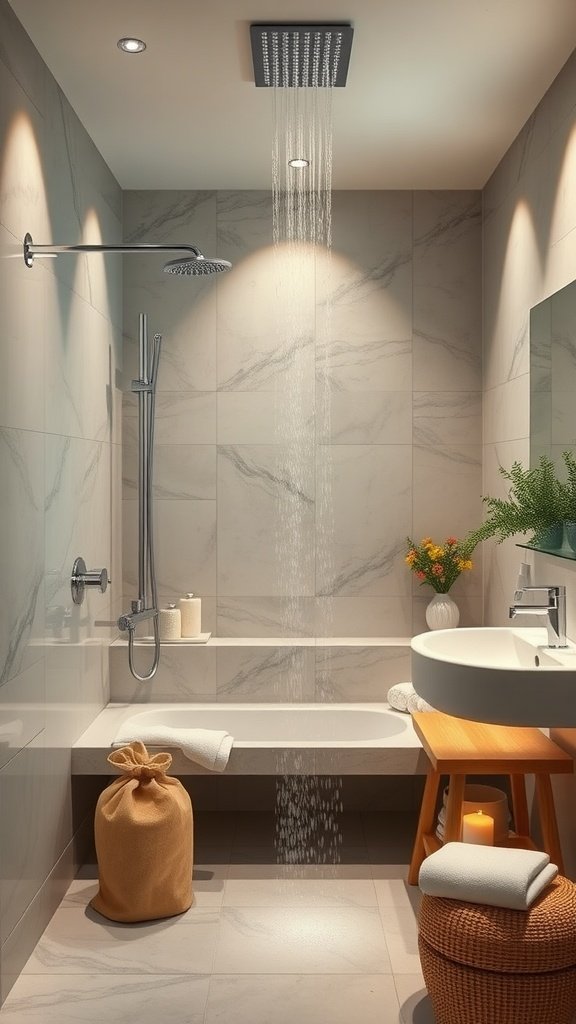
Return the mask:
M397 1024L399 1013L383 975L217 975L206 1024Z

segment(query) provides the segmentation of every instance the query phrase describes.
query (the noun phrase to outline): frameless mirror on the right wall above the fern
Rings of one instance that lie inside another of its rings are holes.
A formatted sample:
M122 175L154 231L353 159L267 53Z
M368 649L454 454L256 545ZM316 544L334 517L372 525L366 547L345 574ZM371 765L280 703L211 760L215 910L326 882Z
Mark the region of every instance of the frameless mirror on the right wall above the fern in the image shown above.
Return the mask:
M530 465L576 451L576 282L530 310ZM550 554L576 559L566 543Z

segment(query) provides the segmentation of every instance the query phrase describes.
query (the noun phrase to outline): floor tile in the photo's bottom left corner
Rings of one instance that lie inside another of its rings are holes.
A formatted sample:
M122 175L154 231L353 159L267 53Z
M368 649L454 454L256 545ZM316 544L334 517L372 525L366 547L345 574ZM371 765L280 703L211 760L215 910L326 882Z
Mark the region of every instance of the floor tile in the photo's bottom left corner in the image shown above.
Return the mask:
M191 975L22 976L2 1024L203 1024L208 985Z

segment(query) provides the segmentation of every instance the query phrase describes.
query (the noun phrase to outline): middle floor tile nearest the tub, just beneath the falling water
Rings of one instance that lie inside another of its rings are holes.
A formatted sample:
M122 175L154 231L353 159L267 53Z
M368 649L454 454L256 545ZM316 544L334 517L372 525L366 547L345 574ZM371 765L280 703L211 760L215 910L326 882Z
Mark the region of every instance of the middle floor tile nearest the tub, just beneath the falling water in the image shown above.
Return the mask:
M231 864L224 906L376 906L369 864Z

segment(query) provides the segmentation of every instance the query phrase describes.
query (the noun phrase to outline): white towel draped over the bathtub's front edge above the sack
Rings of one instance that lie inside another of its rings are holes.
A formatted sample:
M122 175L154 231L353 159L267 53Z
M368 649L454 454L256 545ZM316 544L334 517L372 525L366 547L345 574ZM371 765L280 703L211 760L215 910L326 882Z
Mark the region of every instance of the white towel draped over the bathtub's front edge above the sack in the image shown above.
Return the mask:
M130 720L122 725L113 746L126 746L134 739L151 746L179 746L191 761L209 768L223 771L234 743L230 732L219 729L176 729L167 725L132 725Z

